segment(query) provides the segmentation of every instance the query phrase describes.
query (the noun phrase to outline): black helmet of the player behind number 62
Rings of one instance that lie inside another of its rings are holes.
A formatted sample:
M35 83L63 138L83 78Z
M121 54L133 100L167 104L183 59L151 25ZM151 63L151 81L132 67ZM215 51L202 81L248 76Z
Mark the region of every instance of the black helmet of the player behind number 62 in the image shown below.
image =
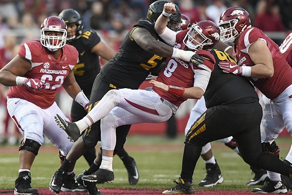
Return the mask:
M62 18L65 23L68 24L76 24L76 35L73 37L67 37L68 42L72 42L75 39L78 39L82 35L83 29L83 21L80 14L74 9L64 9L60 14L59 17ZM69 32L68 32L69 33Z

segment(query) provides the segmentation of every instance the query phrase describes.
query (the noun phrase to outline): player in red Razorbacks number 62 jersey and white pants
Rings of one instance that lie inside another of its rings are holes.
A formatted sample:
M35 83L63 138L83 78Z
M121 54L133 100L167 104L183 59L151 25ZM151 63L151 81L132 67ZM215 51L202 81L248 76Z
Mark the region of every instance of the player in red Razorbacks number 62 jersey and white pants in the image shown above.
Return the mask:
M40 41L26 41L18 55L0 70L0 83L11 86L7 94L10 117L23 135L19 146L19 170L15 181L15 195L38 195L30 185L30 169L44 137L48 137L66 156L73 145L66 132L54 121L57 113L63 117L55 97L63 86L67 93L86 107L89 100L81 91L73 75L78 61L77 50L66 45L67 26L59 17L46 18L40 27ZM74 179L73 170L66 175L63 191L85 191Z

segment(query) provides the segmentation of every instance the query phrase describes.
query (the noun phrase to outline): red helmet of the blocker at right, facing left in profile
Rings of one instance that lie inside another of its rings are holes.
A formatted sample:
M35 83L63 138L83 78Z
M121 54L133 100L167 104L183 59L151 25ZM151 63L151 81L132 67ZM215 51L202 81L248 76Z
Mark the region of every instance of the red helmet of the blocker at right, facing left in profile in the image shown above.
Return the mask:
M221 41L234 42L238 35L251 25L249 13L241 7L230 7L220 16Z

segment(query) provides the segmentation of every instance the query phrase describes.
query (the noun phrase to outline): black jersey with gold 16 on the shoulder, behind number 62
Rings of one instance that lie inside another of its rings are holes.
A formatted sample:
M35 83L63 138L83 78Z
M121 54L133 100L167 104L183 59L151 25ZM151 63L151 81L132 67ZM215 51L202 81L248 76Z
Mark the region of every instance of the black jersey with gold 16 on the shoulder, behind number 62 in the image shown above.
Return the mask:
M78 63L73 72L77 83L84 93L91 92L95 77L100 72L99 56L91 53L91 49L100 42L100 37L95 31L82 30L82 35L73 43L79 53Z

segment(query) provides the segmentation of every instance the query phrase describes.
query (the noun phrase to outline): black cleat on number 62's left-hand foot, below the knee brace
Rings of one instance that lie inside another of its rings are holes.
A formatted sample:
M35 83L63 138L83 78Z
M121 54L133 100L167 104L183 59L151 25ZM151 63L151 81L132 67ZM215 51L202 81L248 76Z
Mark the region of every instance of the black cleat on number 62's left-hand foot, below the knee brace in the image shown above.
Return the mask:
M31 176L21 176L15 180L15 195L38 195L38 191L31 187Z

